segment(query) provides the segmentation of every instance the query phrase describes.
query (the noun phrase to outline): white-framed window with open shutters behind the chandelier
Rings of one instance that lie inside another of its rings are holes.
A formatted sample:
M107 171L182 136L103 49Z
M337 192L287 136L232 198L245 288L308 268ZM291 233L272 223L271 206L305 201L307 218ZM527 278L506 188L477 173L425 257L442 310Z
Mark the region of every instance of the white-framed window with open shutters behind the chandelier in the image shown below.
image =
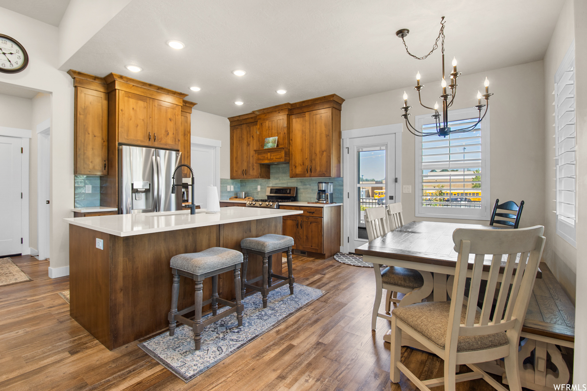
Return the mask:
M452 110L452 130L478 120L476 108ZM419 130L434 130L431 115L418 115ZM473 131L416 137L416 216L489 220L489 113ZM491 204L492 206L492 204Z

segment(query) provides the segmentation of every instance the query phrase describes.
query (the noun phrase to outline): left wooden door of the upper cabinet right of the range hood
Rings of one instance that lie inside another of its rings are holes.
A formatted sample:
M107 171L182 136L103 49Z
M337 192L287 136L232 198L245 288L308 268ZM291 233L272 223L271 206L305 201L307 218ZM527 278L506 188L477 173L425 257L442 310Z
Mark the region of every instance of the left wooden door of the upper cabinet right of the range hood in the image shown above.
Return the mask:
M310 176L310 113L291 115L289 118L289 176Z

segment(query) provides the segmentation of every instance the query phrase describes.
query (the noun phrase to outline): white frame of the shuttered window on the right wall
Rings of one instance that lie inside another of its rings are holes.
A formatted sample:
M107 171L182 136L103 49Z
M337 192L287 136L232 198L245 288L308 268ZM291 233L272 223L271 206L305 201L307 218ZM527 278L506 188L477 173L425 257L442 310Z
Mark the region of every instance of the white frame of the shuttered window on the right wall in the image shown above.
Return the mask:
M552 91L552 94L556 94L556 84L558 83L558 81L561 79L562 74L565 72L565 69L568 69L568 67L573 64L573 68L575 67L575 40L573 39L573 42L571 42L571 46L569 46L569 49L566 51L565 57L562 59L561 65L558 67L558 70L556 70L556 73L554 75L554 91ZM573 73L575 71L573 70ZM575 80L575 94L576 94L576 80ZM558 111L556 110L557 106L556 106L556 95L554 97L554 102L552 103L555 107L554 109L554 116L555 116L555 137L554 137L554 142L555 142L555 208L556 210L554 210L554 212L556 213L555 216L555 220L556 220L556 234L558 234L558 236L562 237L562 239L564 239L567 243L571 244L571 246L573 247L577 247L577 243L576 243L576 223L577 223L577 214L576 214L576 208L577 208L577 199L576 199L576 192L575 192L575 226L571 227L569 224L559 220L558 218L558 186L559 186L559 180L558 180L558 172L559 172L559 165L558 165L558 120L557 120L557 116L556 114L558 114ZM576 103L576 100L575 100ZM576 121L576 112L575 112L575 121ZM577 128L575 125L575 137L577 134ZM575 138L575 147L576 147L576 138ZM576 150L575 150L575 160L576 160ZM577 189L577 170L576 170L576 166L575 166L575 191ZM561 225L564 225L564 230L566 232L563 232L563 230L561 229Z

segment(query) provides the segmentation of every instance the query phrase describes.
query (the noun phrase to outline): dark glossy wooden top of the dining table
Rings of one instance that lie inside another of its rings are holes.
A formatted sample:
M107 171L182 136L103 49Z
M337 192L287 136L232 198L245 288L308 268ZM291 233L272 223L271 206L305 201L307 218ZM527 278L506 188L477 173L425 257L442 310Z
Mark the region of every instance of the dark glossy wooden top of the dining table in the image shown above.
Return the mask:
M411 222L357 247L355 253L416 263L456 267L458 253L454 251L453 232L457 228L501 229L501 227L478 224ZM468 268L473 268L473 261L474 255L471 254ZM490 266L491 256L488 255L485 257L483 270L489 271ZM500 273L504 267L505 257L501 263ZM537 277L541 278L540 271L538 271Z

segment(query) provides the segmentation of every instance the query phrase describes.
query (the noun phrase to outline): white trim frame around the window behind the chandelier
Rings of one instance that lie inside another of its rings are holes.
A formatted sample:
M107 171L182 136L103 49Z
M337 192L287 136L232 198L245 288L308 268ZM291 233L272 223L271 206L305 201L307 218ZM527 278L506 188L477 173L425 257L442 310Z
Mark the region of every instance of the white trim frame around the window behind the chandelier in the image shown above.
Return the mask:
M422 183L422 139L423 137L416 137L416 188L414 189L416 202L416 217L436 217L438 219L463 219L463 220L490 220L491 209L491 172L490 172L490 125L489 125L489 109L483 121L481 121L481 208L438 208L434 206L422 206L420 198L420 183ZM468 118L477 118L479 111L474 108L461 108L459 110L450 110L450 121L467 120ZM442 118L441 118L442 120ZM433 123L434 120L430 114L416 116L416 129L422 130L423 124ZM430 140L431 137L425 137Z

